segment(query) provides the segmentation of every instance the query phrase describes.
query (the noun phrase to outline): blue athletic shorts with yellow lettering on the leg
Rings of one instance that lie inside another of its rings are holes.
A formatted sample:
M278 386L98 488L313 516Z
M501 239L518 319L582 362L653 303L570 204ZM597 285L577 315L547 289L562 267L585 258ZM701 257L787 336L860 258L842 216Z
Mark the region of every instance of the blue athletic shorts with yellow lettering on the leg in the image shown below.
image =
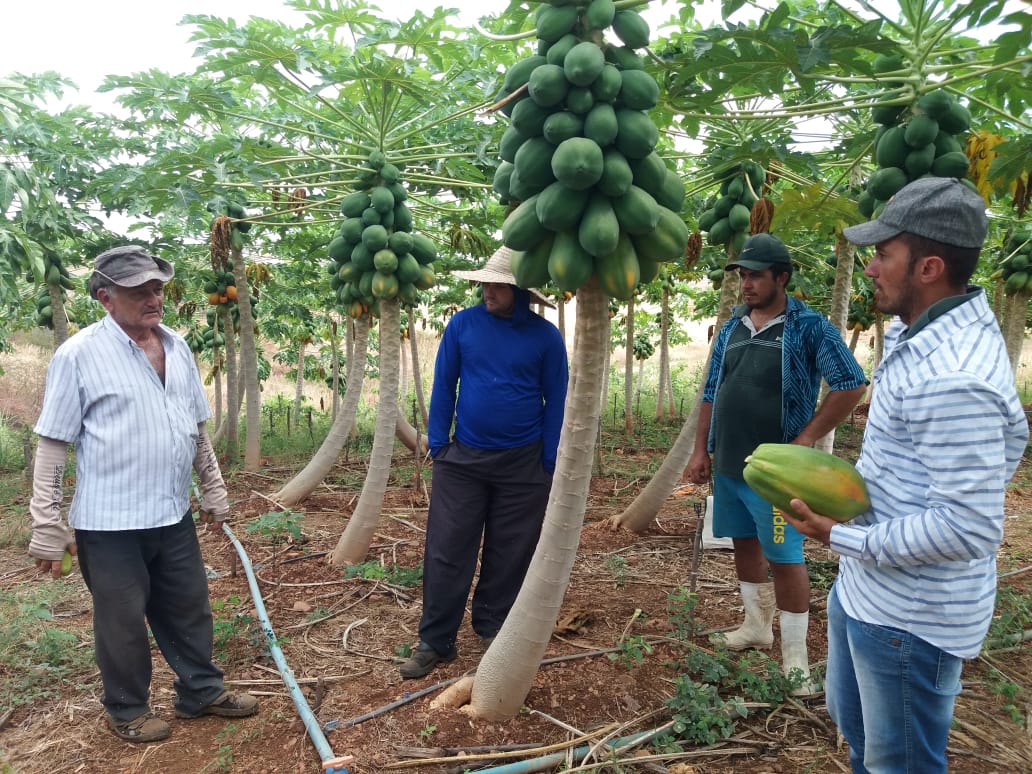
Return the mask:
M713 536L757 538L768 561L803 561L803 536L742 479L713 475Z

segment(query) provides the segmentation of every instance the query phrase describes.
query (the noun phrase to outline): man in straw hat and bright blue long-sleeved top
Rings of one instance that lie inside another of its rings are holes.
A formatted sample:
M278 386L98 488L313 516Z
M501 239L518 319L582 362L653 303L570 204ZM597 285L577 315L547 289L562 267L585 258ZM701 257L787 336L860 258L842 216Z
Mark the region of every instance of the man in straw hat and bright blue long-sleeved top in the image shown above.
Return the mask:
M452 317L438 350L423 614L419 645L400 668L405 678L457 656L478 553L472 624L490 644L541 533L567 396L567 350L558 329L530 310L531 297L551 307L548 300L516 287L511 255L503 247L483 268L452 272L481 283L483 302Z

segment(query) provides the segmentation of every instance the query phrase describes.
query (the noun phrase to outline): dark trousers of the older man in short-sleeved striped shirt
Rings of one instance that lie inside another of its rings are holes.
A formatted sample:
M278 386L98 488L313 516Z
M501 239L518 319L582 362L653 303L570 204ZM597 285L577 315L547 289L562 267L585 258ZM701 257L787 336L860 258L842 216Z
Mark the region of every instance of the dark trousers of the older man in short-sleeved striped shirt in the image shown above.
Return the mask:
M78 565L93 596L93 635L108 714L131 720L150 709L151 643L175 672L175 708L195 714L223 690L212 662L207 577L188 511L171 526L76 529Z

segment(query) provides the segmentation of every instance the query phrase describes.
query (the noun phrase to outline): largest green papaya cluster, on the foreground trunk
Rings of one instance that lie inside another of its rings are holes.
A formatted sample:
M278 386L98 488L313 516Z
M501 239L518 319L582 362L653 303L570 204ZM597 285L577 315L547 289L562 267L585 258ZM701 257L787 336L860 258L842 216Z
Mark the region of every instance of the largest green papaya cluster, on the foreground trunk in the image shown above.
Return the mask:
M538 53L506 73L494 190L519 202L502 226L521 287L574 291L595 275L625 300L684 255L684 185L655 152L659 87L636 53L649 27L613 0L551 0L535 18ZM612 40L605 34L611 32Z

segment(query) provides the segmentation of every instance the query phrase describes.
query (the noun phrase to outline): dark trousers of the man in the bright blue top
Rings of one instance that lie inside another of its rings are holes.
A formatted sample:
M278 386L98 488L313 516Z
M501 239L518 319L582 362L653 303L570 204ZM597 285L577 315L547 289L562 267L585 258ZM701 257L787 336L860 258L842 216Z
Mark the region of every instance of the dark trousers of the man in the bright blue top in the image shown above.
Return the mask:
M419 639L447 653L462 622L478 553L473 630L493 637L502 627L538 545L552 477L541 464L540 443L487 451L452 442L433 459L431 486Z

